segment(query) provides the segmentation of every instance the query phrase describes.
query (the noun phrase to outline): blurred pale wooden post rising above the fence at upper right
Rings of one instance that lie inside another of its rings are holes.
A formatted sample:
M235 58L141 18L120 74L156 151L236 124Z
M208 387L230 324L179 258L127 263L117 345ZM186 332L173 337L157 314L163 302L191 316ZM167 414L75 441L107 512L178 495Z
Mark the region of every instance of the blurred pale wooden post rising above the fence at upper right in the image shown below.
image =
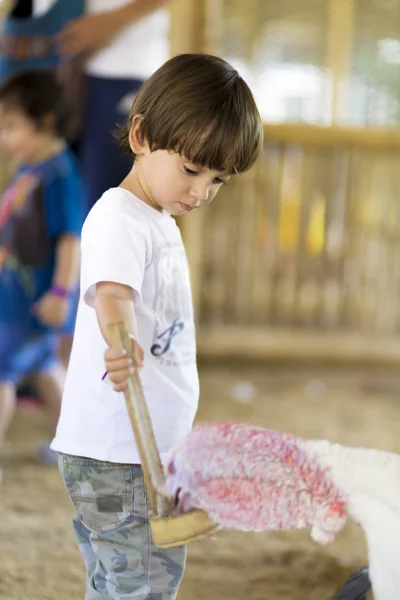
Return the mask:
M353 26L354 0L329 0L326 65L332 80L332 125L344 125L348 117Z

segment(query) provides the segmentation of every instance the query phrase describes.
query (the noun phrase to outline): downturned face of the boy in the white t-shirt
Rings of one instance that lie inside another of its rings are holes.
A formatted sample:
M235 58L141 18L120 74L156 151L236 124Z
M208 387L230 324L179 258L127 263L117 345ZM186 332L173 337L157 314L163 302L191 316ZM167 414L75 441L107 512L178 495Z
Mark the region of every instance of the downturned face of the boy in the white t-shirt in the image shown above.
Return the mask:
M195 165L168 150L139 157L135 170L151 205L174 216L212 202L230 178L229 173Z

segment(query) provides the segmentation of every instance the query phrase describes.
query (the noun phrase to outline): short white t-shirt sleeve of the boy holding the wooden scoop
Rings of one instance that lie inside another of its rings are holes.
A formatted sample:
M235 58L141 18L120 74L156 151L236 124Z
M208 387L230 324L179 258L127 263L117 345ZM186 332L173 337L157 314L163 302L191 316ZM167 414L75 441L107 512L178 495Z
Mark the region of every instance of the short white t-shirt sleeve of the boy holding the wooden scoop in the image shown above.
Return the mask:
M121 209L118 199L99 201L82 229L81 293L93 307L101 281L131 287L138 299L146 267L149 233L145 223Z

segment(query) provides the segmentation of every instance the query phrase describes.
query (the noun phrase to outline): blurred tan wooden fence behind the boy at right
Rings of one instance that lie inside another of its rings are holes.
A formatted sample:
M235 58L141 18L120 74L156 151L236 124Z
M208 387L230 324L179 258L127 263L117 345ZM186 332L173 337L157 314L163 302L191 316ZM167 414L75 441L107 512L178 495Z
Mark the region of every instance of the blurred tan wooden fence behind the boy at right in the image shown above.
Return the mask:
M266 125L183 232L200 355L400 360L400 132Z

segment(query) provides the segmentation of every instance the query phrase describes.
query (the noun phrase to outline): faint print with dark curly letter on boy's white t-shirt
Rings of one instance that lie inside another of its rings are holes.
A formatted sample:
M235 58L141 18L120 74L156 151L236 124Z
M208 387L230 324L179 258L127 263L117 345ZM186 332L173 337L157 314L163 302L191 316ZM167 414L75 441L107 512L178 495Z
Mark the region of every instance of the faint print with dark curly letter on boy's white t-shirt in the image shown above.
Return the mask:
M160 364L196 361L189 269L181 244L161 246L155 257L155 330L151 353Z

